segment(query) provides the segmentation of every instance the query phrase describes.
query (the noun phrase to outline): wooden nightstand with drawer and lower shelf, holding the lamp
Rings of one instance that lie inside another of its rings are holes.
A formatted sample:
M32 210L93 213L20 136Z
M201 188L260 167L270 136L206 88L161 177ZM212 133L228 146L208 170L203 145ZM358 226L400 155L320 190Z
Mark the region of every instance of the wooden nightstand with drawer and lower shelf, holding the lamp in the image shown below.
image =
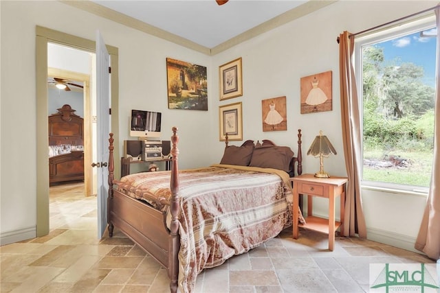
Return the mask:
M335 232L344 222L345 185L346 177L331 176L330 178L316 178L313 174L303 174L290 179L294 185L294 219L298 219L299 196L307 195L306 224L299 224L294 220L294 239L298 239L298 226L329 234L329 250L335 246ZM313 215L313 196L329 199L329 219ZM335 202L340 196L340 222L335 220Z

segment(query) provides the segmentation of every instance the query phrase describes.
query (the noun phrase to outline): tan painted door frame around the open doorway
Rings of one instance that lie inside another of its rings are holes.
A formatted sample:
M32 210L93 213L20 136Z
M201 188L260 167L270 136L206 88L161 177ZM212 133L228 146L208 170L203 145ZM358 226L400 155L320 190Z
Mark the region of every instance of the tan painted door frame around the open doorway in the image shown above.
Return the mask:
M65 34L47 27L36 26L36 237L49 234L49 141L47 139L47 43L58 43L84 51L95 52L94 40ZM119 137L119 75L118 48L107 45L111 58L111 131L115 141ZM115 143L115 157L119 157L119 143ZM119 160L115 160L115 177L119 176Z

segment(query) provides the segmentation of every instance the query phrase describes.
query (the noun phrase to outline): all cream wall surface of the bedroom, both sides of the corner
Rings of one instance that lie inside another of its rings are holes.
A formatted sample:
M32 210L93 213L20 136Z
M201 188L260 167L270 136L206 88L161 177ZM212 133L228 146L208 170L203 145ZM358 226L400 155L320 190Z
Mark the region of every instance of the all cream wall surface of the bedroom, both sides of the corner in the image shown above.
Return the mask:
M325 160L325 169L330 174L343 176L345 169L340 130L339 55L336 37L344 30L360 32L437 4L435 1L399 1L398 5L396 3L338 1L221 54L206 56L70 8L63 3L1 1L1 140L13 141L14 144L2 144L1 148L0 172L3 184L0 233L35 224L35 151L26 150L28 156L20 156L24 150L17 148L17 145L34 145L34 128L29 127L26 121L17 121L17 126L27 127L24 133L17 133L7 127L10 126L10 121L14 121L14 111L17 109L22 110L23 116L28 120L34 121L36 116L35 25L91 40L94 40L95 32L99 29L106 43L119 48L121 148L122 141L129 139L127 124L130 110L157 110L163 113L162 139L167 139L167 129L172 126L179 127L179 167L217 163L221 159L224 146L219 141L218 107L243 102L244 140L272 139L281 145L291 145L296 151L296 131L301 128L303 171L312 173L319 168L319 163L317 159L306 156L305 152L319 130L323 130L338 151L338 155ZM166 57L208 67L208 111L168 110ZM220 102L219 65L238 57L243 58L243 97ZM301 115L300 78L329 70L333 71L333 110ZM17 80L14 78L17 75L21 75L22 78ZM19 86L22 82L27 86ZM287 97L287 131L263 132L261 100L282 95ZM23 171L21 168L6 167L14 165L27 165L29 168ZM23 178L28 184L22 184ZM364 192L363 200L369 237L379 239L381 235L393 235L385 239L382 237L381 241L392 240L395 245L410 249L417 235L426 199L367 191ZM316 202L316 213L325 215L327 202ZM8 221L12 215L15 220ZM406 225L408 222L411 225Z

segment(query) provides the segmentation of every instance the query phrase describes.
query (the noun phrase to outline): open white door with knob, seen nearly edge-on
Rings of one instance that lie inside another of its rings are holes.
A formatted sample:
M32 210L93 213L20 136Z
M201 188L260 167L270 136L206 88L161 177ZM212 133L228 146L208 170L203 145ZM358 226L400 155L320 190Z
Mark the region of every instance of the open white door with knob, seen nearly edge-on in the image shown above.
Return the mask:
M109 170L110 132L110 56L99 31L96 32L96 136L97 136L97 183L98 183L98 239L107 226L107 182Z

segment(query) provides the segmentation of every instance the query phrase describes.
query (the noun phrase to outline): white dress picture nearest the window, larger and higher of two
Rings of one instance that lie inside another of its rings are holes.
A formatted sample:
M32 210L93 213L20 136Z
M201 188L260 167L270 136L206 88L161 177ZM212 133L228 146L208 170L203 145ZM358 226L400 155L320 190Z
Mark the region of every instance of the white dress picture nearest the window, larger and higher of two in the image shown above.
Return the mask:
M331 71L301 78L301 114L332 110Z

